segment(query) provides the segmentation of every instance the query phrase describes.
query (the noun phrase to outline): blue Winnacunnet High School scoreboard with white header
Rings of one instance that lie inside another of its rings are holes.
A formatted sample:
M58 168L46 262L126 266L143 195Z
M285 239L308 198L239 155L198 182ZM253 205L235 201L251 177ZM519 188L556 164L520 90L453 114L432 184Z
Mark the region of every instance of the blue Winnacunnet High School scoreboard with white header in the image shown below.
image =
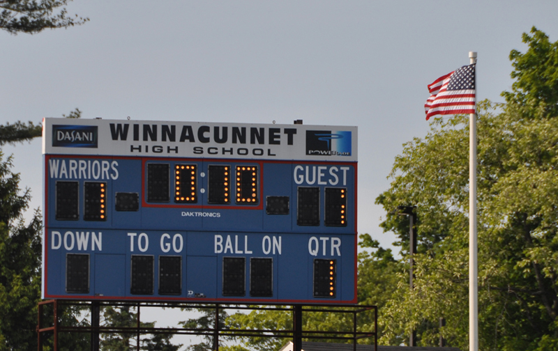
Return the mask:
M356 303L356 138L45 118L43 298Z

